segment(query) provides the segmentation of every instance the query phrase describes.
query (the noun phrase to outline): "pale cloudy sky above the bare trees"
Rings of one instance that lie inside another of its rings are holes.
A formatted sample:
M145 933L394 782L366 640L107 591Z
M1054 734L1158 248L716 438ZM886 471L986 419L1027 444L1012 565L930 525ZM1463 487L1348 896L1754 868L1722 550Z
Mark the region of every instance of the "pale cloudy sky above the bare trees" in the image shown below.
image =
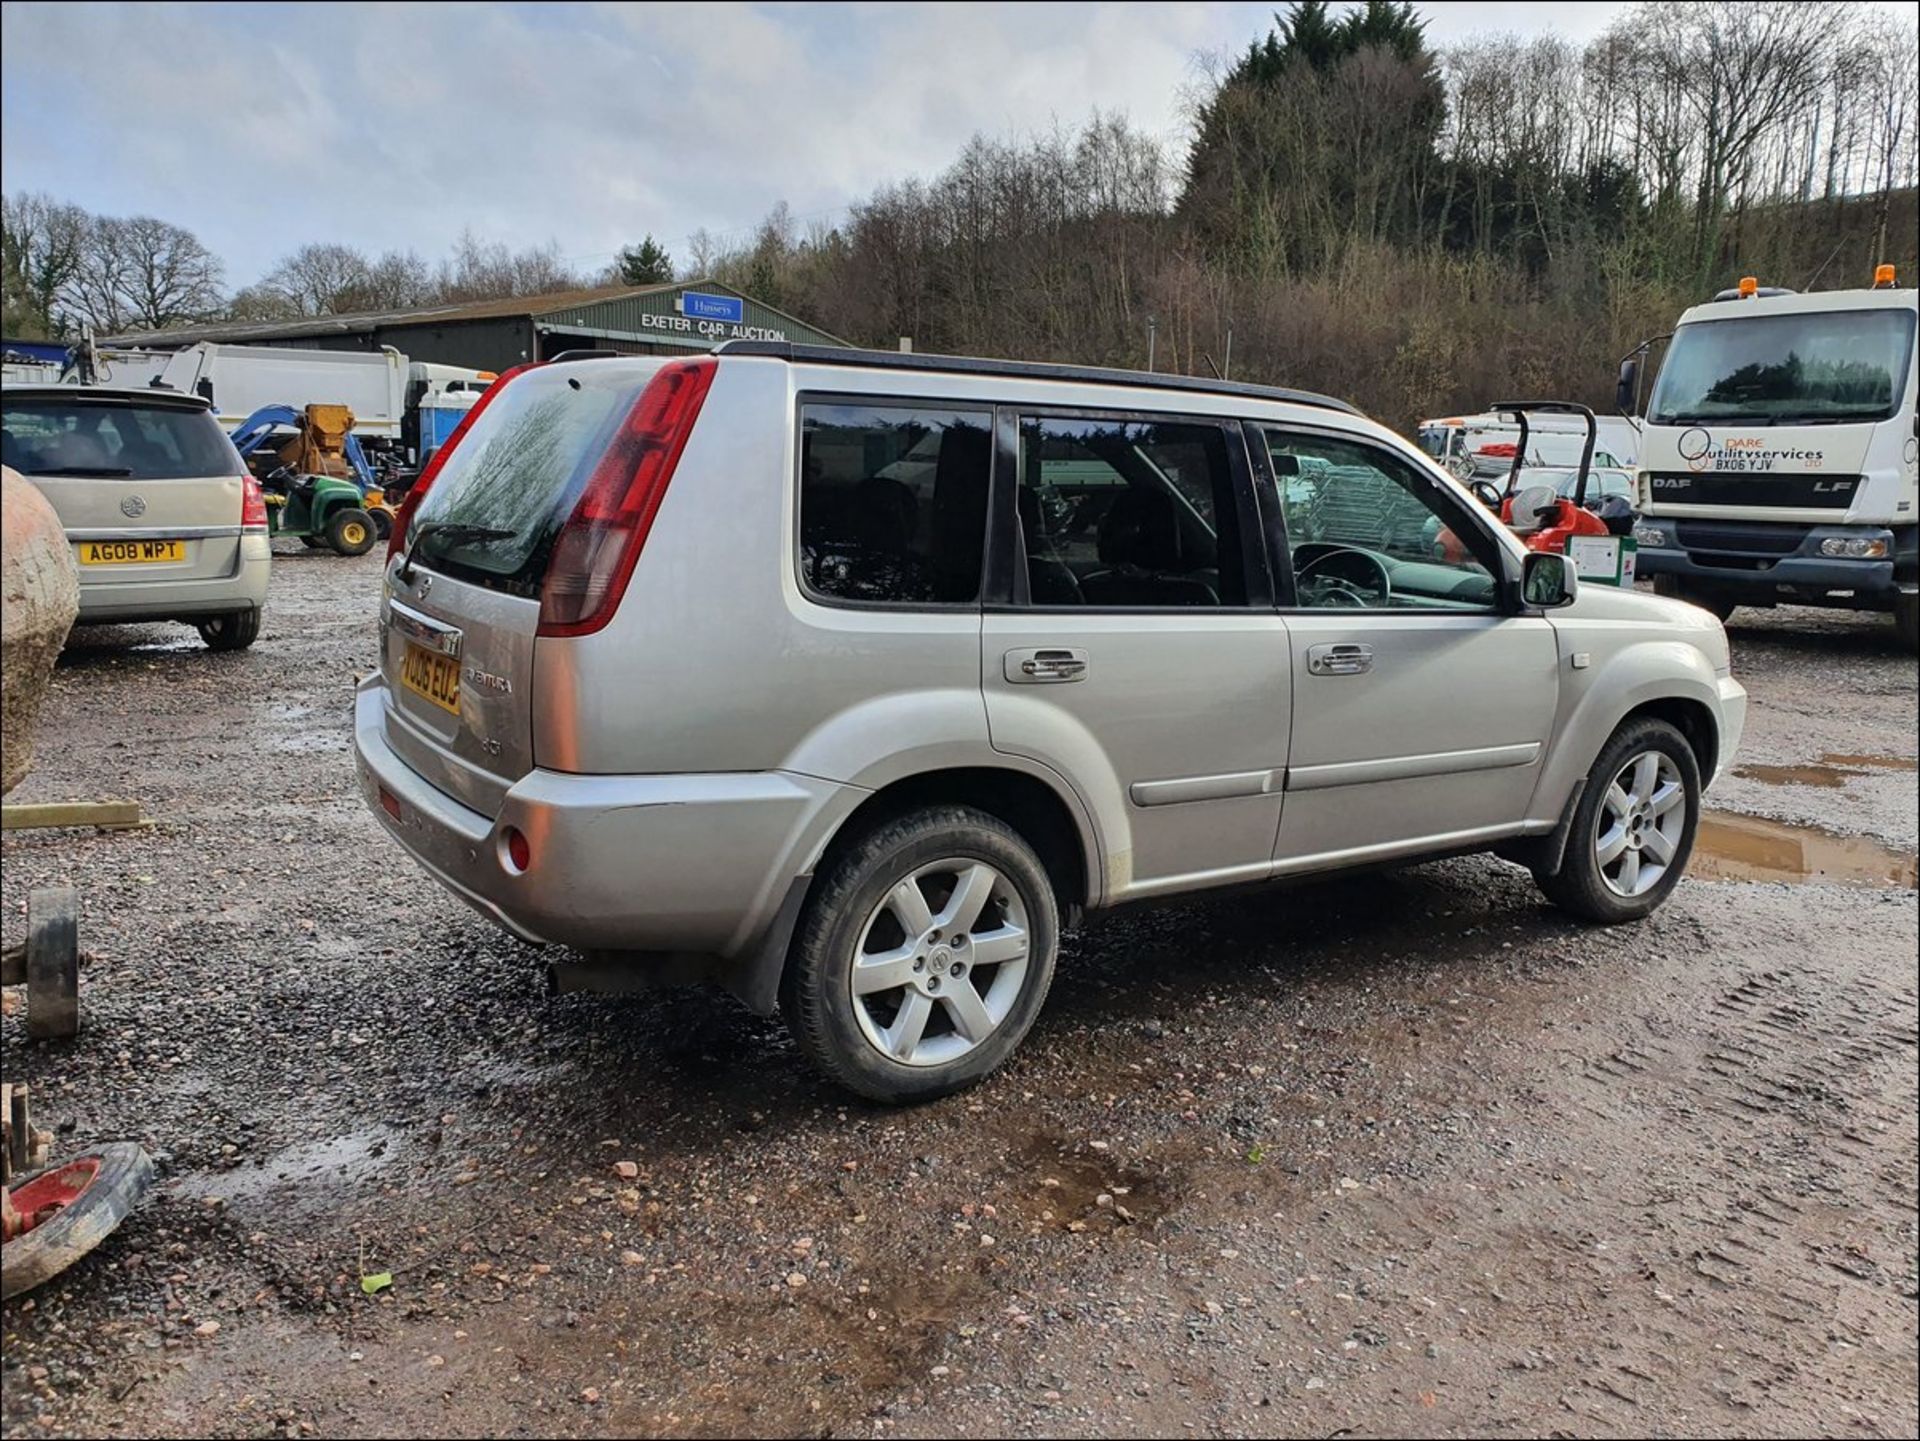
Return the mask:
M0 173L200 234L252 282L309 240L438 259L463 224L582 269L778 200L837 219L975 130L1091 109L1177 138L1271 4L38 4L0 8ZM1434 4L1438 44L1617 4Z

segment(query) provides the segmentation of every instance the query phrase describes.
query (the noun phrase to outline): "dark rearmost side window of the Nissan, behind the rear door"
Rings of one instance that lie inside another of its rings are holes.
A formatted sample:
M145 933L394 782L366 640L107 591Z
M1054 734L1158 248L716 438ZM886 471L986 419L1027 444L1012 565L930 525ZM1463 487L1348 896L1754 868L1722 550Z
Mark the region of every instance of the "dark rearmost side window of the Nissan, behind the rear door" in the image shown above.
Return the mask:
M979 599L993 416L801 407L801 578L868 604Z

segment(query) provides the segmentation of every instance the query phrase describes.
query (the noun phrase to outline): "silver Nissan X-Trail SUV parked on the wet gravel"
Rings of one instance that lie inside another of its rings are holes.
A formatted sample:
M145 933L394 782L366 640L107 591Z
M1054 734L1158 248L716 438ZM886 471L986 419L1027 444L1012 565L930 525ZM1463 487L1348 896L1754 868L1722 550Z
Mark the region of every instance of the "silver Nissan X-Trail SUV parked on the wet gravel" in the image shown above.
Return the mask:
M369 804L561 984L718 980L881 1099L1006 1059L1085 909L1496 850L1642 917L1745 718L1713 616L1319 395L747 342L440 455Z

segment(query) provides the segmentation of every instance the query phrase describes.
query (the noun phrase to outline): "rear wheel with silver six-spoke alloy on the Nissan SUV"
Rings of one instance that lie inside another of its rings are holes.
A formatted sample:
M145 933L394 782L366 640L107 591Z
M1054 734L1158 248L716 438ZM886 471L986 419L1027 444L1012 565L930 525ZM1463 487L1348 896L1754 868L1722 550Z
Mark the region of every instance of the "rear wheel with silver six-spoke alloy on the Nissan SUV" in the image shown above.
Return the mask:
M918 810L818 877L787 956L787 1027L860 1096L950 1096L1027 1034L1058 940L1052 883L1010 825L966 806Z

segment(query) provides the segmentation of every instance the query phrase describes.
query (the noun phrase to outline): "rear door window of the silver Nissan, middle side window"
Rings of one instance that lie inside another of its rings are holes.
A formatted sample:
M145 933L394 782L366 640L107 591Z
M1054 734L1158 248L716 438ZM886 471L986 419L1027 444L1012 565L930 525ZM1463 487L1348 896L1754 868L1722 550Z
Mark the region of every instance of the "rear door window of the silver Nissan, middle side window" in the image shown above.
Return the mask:
M1020 424L1020 533L1037 608L1244 606L1238 520L1219 424Z

